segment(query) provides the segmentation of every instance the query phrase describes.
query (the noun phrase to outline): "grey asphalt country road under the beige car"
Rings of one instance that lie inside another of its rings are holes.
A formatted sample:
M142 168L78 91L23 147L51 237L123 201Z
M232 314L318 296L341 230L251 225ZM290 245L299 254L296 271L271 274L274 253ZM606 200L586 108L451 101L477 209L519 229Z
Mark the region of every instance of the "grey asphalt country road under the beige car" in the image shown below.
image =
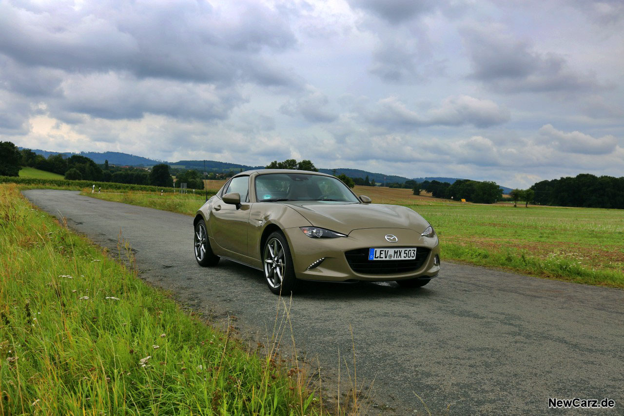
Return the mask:
M247 337L271 333L277 297L260 272L227 260L197 265L191 217L71 191L24 195L102 246L116 250L122 230L145 280L202 312L235 315ZM374 380L373 413L423 414L416 393L432 414L560 414L548 410L549 397L609 397L608 414L624 414L623 290L442 259L422 289L306 284L290 315L296 345L318 355L329 379L340 352L343 385L353 329L358 384Z

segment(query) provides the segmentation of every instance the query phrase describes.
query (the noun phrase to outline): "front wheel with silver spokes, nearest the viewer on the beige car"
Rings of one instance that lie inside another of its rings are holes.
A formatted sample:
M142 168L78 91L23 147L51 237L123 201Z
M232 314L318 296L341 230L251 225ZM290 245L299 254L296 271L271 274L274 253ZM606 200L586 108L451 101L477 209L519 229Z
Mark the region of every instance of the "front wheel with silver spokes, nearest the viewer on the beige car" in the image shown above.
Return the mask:
M263 271L269 289L276 295L290 295L295 291L297 278L284 234L280 231L272 232L266 239L262 253Z

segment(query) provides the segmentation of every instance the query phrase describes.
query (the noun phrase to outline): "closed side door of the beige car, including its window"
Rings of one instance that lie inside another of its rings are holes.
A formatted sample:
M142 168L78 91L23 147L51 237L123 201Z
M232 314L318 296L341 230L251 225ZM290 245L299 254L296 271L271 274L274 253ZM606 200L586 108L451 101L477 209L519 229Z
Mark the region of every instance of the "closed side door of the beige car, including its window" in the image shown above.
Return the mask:
M210 230L218 245L237 254L247 255L249 229L249 176L236 176L223 190L223 194L238 192L240 205L226 204L218 199L210 212Z

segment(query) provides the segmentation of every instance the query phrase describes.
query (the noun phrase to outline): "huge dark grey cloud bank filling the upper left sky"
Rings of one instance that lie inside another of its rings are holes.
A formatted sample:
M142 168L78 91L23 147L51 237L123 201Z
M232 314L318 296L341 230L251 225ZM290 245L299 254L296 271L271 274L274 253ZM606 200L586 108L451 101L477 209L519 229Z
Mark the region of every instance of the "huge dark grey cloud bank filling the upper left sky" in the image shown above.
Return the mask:
M29 66L65 71L129 71L137 77L230 84L293 84L261 59L263 49L296 43L288 21L269 7L235 2L52 2L0 4L0 52ZM231 18L227 14L232 14ZM226 15L226 16L224 16Z

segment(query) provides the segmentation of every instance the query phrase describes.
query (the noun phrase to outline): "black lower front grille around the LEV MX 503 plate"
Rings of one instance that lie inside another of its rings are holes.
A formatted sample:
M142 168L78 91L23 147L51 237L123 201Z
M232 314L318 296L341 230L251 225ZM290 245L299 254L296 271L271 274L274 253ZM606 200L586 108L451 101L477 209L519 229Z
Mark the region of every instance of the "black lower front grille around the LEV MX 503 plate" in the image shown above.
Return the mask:
M344 253L351 269L361 274L407 273L422 267L431 250L418 247L414 260L369 260L368 249L350 250Z

